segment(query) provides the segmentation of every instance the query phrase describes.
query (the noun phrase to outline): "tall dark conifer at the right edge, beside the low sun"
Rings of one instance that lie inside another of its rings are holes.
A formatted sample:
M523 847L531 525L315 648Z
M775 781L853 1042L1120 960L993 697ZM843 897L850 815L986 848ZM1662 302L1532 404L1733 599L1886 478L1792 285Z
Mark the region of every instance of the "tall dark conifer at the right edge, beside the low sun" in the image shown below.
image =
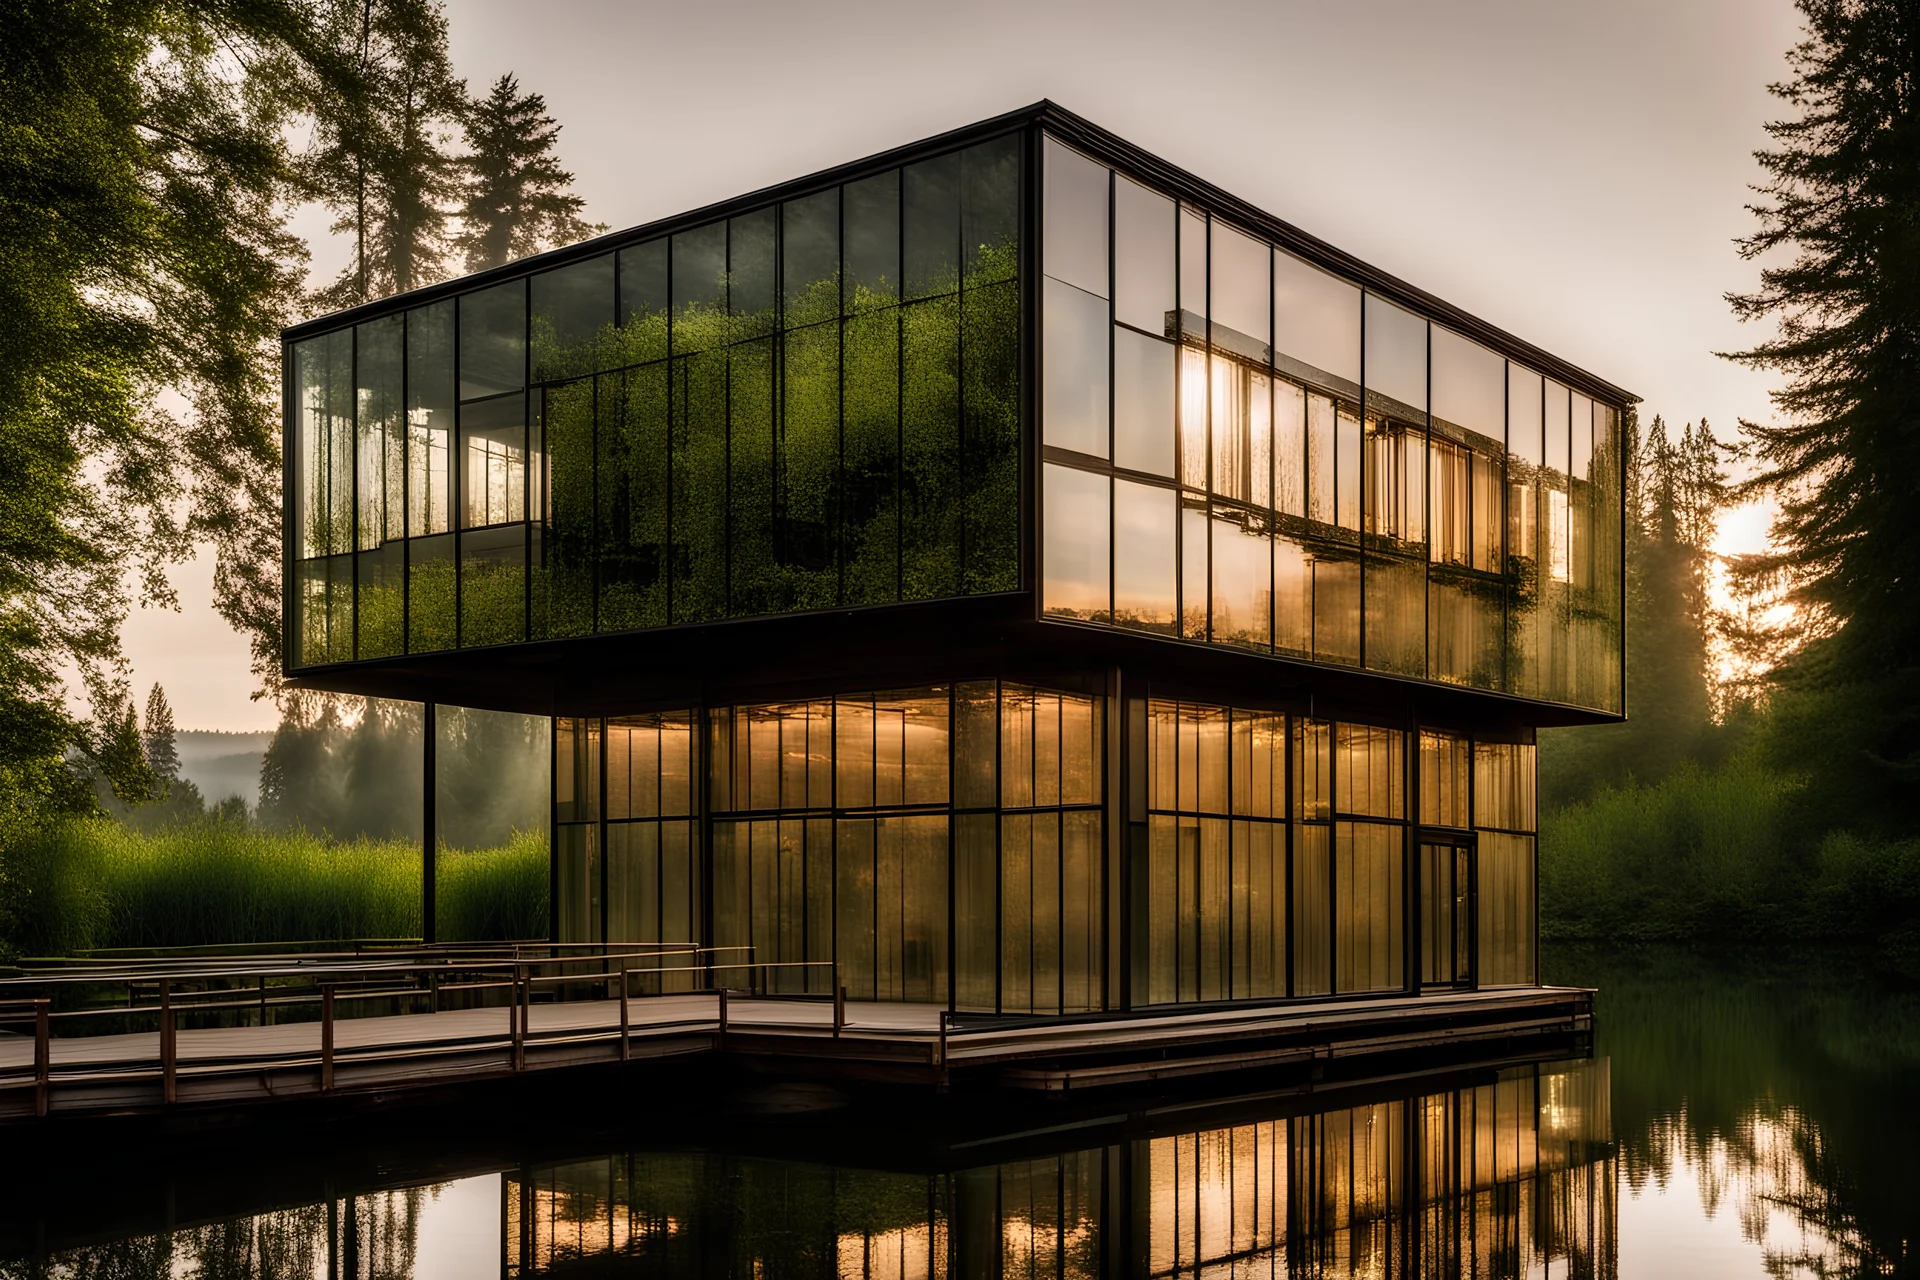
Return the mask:
M1843 679L1920 662L1920 6L1799 0L1807 38L1770 92L1793 117L1774 146L1740 242L1763 259L1738 317L1778 336L1732 359L1784 374L1778 420L1743 422L1780 499L1778 551L1747 574L1784 572L1793 599L1841 628L1822 660Z

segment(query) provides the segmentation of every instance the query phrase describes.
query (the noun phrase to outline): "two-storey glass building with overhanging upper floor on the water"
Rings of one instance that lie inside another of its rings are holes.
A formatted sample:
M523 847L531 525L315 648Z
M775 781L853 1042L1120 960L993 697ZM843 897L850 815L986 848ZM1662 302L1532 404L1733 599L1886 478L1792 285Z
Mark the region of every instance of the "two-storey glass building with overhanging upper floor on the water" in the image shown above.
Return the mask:
M991 1013L1538 981L1634 397L1089 121L284 351L286 676L551 716L559 940Z

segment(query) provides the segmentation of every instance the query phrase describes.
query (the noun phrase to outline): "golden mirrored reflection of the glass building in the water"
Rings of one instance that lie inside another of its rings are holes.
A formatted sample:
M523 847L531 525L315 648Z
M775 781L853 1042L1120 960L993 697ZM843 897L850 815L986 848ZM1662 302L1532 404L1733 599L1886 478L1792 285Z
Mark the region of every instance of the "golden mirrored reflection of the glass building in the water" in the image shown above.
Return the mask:
M634 1153L505 1174L507 1276L1615 1274L1607 1063L1039 1159Z

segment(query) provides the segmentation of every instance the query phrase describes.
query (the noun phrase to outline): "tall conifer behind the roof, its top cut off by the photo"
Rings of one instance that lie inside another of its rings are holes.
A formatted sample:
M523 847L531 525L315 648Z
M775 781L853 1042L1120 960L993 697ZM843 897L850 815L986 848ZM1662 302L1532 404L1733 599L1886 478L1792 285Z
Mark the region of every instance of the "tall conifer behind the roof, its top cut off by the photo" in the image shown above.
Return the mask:
M317 104L305 173L336 215L334 234L353 238L353 257L317 303L351 307L445 276L459 192L447 144L467 86L438 0L332 0L326 29L353 67L353 92Z

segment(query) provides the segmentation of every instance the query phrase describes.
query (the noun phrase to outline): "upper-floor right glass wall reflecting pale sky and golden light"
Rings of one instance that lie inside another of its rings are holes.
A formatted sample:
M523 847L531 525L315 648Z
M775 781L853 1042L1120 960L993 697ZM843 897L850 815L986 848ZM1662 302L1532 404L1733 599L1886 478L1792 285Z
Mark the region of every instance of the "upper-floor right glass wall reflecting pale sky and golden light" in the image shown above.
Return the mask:
M1046 616L1622 708L1617 405L1043 150Z

